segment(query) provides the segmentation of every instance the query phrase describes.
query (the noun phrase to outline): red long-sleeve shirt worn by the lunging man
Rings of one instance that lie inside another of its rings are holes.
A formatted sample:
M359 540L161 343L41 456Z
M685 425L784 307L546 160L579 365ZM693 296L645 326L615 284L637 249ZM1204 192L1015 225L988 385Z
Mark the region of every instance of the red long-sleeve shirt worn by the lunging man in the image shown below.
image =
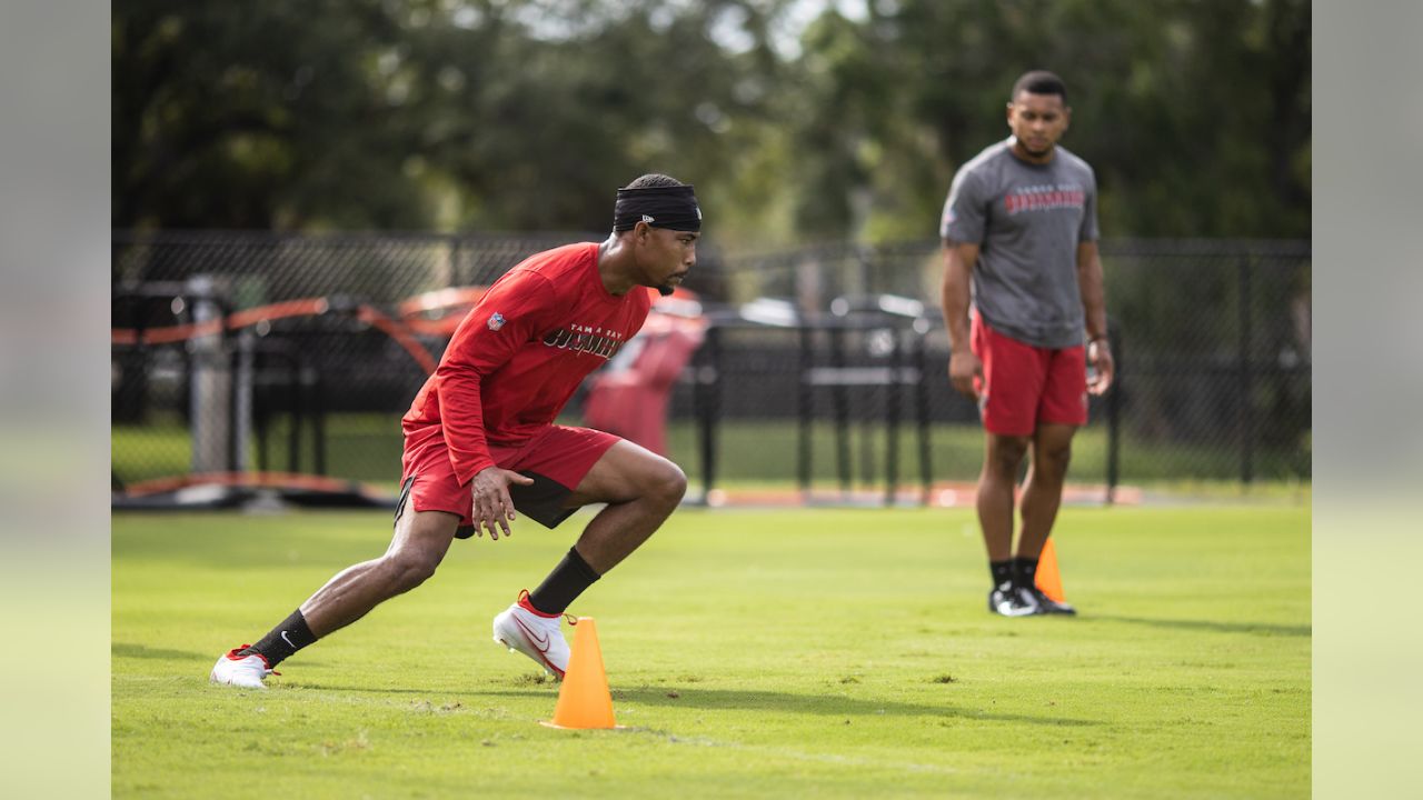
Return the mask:
M633 337L652 299L618 298L598 245L536 253L490 286L400 420L406 448L443 436L460 484L494 465L490 443L518 446L551 424L578 384Z

